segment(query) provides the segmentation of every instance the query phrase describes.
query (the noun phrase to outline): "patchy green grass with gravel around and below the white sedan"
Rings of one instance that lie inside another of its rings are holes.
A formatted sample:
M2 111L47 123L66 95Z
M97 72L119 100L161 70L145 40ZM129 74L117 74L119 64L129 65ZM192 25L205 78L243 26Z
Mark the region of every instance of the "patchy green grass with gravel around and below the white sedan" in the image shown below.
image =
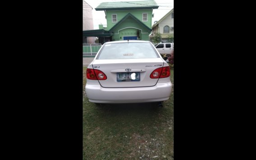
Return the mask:
M173 159L174 90L163 108L155 104L98 106L85 95L85 73L84 67L83 160Z

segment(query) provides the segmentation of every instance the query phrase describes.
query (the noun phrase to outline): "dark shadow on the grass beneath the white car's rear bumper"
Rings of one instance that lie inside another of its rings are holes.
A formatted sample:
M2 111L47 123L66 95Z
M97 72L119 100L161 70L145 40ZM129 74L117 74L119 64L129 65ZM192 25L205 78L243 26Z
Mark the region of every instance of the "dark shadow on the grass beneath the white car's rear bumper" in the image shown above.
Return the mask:
M109 126L119 131L146 134L151 127L160 127L166 121L170 121L172 113L170 107L158 107L158 103L136 104L94 104L94 111L89 114L95 119L94 123ZM92 118L91 117L91 118ZM110 129L109 128L109 129ZM152 129L148 134L157 133Z

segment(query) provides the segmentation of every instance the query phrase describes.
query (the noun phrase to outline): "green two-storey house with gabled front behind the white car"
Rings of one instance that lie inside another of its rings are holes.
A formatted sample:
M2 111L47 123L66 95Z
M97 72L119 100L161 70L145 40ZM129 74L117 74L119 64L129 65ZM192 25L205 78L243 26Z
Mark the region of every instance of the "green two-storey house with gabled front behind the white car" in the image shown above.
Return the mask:
M95 8L104 11L107 27L100 26L110 34L110 41L149 40L152 24L152 11L158 9L154 0L130 2L104 2Z

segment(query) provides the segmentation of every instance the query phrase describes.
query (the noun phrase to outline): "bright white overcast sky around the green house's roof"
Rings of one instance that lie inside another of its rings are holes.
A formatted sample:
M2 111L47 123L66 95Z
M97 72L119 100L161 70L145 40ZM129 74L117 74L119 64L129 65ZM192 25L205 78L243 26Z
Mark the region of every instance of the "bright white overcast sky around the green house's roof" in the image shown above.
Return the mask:
M107 25L104 11L96 11L95 8L102 2L129 2L129 1L144 1L144 0L85 0L92 9L93 27L94 30L99 29L99 24ZM159 5L158 9L153 9L154 17L152 18L152 24L155 21L159 21L165 16L171 9L174 8L174 0L155 0L156 4Z

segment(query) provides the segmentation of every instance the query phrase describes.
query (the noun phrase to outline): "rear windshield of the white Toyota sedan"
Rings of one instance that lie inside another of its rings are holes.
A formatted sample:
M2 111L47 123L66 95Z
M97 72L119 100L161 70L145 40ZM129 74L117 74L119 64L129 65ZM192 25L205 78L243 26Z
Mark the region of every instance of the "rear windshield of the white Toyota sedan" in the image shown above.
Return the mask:
M101 49L97 60L159 58L150 43L110 43Z

